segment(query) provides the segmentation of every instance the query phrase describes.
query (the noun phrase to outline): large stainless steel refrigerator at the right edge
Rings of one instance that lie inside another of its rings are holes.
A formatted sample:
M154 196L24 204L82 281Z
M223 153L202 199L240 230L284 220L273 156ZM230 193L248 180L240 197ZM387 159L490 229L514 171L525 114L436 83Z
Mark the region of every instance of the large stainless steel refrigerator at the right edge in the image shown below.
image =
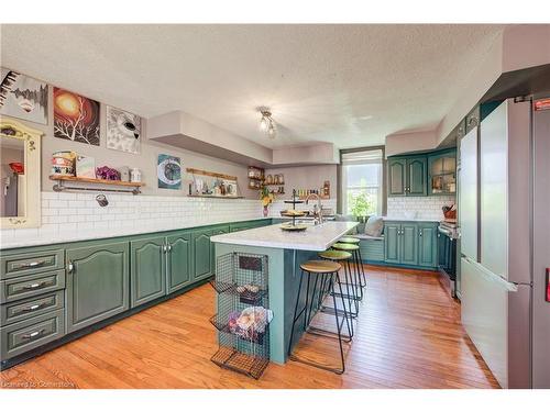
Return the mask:
M503 388L550 388L550 101L521 100L460 142L462 323Z

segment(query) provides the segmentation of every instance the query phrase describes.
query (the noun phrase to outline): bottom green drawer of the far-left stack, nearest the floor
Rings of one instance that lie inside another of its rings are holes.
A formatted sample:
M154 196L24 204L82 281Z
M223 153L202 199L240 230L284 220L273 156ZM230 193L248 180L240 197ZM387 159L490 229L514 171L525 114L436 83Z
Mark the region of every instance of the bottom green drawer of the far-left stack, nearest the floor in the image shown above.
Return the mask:
M65 335L64 310L44 313L26 321L0 327L0 355L6 360L13 356L58 339Z

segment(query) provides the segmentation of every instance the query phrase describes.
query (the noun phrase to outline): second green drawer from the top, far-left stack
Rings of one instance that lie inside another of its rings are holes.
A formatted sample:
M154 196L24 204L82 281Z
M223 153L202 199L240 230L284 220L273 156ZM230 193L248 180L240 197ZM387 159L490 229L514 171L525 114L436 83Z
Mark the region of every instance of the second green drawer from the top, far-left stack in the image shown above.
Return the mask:
M65 288L65 269L0 281L0 303Z

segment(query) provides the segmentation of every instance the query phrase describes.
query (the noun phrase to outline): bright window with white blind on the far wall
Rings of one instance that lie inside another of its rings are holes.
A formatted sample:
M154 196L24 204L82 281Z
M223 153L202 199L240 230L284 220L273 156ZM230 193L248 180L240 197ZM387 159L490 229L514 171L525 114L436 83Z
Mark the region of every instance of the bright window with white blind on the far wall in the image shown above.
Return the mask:
M384 211L384 149L341 152L341 212L371 215Z

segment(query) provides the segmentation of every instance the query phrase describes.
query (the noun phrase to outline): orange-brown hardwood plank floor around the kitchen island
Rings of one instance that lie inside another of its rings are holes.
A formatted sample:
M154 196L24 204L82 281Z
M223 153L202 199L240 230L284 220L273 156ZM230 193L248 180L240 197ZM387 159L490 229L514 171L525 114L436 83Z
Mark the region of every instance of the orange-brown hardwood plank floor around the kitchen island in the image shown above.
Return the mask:
M271 364L260 380L210 361L217 349L209 285L0 374L2 388L498 388L437 275L369 267L346 371ZM297 350L337 359L334 342Z

